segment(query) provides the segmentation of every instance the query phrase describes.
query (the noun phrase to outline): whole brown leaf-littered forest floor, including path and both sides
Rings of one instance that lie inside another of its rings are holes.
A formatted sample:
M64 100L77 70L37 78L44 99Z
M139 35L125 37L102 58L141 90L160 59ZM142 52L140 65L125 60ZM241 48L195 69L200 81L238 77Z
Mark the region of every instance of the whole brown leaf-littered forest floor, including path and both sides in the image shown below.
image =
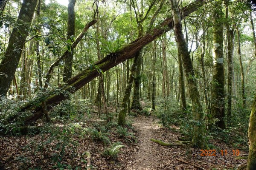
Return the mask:
M240 150L239 156L233 156L233 150L237 148L218 140L211 139L210 143L227 150L227 156L221 156L218 149L216 156L200 156L200 148L160 146L150 139L163 142L177 140L181 136L179 127L162 127L155 116L137 114L129 116L129 119L132 120L133 128L127 128L137 136L137 143L131 144L120 139L116 127L108 131L111 142L122 142L125 145L120 149L116 160L108 159L102 154L109 145L93 140L90 134L82 133L83 129L99 129L105 126L105 122L92 113L79 128L76 123L63 125L63 122L59 122L52 125L51 130L55 130L51 131L52 134L45 132L26 136L0 136L0 170L60 170L61 165L65 165L65 170L68 170L67 165L72 166L72 169L79 167L85 170L86 150L91 153L92 170L236 170L246 164L246 151ZM73 128L72 133L67 133L67 127ZM58 167L57 161L52 160L64 144L65 152L61 155L61 164Z

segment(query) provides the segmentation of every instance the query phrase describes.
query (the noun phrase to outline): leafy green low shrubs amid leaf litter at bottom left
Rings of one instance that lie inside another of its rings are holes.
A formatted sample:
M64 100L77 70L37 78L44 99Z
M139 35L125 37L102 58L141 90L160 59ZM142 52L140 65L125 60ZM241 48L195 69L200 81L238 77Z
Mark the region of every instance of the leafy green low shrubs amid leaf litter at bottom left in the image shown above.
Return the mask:
M31 153L33 156L40 158L40 161L44 159L51 159L51 163L55 164L53 168L59 169L73 169L73 165L63 164L65 159L71 159L77 155L78 142L74 138L76 129L80 128L76 125L67 125L58 127L55 125L46 124L42 130L42 133L38 140L32 140L28 145L23 147L26 153ZM46 135L47 134L47 135ZM71 151L71 153L70 153ZM69 154L67 154L69 152ZM19 156L18 159L26 161L26 157ZM28 164L28 167L32 166ZM28 167L24 169L28 169ZM35 167L34 169L41 169L41 167ZM78 169L78 167L76 167ZM30 169L32 169L30 167Z

